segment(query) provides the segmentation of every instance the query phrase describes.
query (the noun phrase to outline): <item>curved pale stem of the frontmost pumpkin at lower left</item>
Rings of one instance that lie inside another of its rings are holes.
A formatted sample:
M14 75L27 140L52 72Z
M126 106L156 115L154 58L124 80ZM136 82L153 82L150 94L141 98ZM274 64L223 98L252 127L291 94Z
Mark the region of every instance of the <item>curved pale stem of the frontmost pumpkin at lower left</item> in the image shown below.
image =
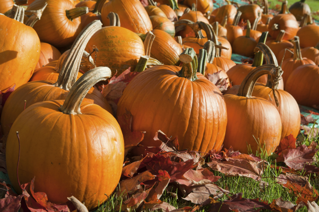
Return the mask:
M111 69L108 67L97 67L87 71L72 86L59 110L64 114L81 114L80 106L87 92L97 82L106 80L110 78L111 75Z

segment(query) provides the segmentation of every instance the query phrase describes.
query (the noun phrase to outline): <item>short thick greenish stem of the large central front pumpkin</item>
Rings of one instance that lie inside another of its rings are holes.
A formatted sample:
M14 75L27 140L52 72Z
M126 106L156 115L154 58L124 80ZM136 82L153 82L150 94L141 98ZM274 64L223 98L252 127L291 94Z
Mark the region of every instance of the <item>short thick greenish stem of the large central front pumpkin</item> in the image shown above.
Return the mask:
M195 81L197 71L197 56L193 48L186 48L180 54L179 60L183 62L182 69L178 72L178 76Z

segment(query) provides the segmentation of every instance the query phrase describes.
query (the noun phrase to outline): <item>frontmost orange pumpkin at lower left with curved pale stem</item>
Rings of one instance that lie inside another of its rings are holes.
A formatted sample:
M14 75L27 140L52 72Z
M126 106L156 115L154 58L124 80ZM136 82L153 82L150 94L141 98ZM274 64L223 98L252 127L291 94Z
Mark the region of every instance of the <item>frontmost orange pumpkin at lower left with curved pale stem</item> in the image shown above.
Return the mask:
M45 192L48 201L64 203L73 195L89 210L112 194L124 160L122 131L111 113L82 102L97 81L110 76L107 67L95 68L73 85L65 100L38 102L21 113L6 145L8 175L16 191L21 194L19 184L35 176L34 189Z

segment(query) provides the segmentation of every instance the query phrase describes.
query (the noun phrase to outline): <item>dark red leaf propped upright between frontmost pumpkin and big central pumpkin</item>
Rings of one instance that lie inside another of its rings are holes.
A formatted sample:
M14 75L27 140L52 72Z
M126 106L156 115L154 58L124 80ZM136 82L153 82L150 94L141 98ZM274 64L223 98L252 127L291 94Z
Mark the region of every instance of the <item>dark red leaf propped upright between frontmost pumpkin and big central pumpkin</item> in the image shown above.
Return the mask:
M132 114L127 110L123 116L117 117L124 138L124 157L133 147L137 146L144 139L145 132L131 131L132 119Z

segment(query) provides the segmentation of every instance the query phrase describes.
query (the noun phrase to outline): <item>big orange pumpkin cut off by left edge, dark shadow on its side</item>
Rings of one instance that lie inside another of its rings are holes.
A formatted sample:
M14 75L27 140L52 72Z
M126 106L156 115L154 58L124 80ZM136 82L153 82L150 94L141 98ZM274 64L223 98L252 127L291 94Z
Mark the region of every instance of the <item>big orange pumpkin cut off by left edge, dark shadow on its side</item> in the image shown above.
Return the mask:
M1 3L2 4L2 3ZM14 6L16 19L0 15L0 90L18 88L31 78L40 57L40 39L32 27L23 24L24 9Z

